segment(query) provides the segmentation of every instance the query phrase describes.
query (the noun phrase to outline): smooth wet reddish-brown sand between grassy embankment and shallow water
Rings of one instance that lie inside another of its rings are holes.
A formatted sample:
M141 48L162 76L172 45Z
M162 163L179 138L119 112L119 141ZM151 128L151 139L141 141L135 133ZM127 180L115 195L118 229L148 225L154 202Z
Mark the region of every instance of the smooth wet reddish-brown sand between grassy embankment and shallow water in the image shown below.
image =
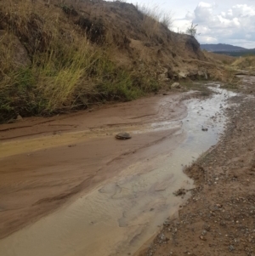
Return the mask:
M153 132L151 123L184 117L181 95L111 105L53 118L28 118L0 126L0 238L54 211L78 192L118 174L125 157L150 147L175 129ZM125 141L118 132L146 131ZM181 138L180 138L181 140ZM70 202L70 200L69 200Z

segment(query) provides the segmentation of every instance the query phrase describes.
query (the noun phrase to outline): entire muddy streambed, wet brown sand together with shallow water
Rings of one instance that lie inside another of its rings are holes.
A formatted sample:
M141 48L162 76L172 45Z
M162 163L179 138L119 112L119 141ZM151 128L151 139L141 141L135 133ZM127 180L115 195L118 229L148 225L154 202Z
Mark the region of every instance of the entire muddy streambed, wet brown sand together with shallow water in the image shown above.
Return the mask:
M0 127L0 236L26 225L0 241L0 253L134 253L190 196L173 196L194 187L184 165L224 131L234 94L212 89L207 100L156 96ZM133 138L114 139L120 131Z

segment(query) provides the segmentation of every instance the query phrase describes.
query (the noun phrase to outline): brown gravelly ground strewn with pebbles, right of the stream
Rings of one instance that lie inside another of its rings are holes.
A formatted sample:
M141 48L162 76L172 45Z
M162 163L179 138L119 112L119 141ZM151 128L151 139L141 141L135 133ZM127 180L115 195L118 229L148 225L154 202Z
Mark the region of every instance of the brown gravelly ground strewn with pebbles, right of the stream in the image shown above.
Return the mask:
M139 255L255 255L254 85L243 78L223 138L186 170L196 190Z

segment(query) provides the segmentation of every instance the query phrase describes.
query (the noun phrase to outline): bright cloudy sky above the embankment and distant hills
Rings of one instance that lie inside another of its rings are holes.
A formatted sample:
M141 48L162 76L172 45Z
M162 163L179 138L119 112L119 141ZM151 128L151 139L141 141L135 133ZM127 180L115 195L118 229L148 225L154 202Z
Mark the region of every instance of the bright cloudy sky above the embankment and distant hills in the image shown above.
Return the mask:
M255 48L255 0L127 0L173 16L173 31L197 24L199 43Z

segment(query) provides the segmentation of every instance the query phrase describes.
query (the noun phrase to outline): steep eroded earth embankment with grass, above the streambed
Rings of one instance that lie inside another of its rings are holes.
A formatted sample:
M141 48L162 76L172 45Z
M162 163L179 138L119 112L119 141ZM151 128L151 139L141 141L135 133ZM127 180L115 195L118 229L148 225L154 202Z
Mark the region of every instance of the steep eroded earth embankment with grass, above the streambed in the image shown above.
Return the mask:
M0 14L0 122L133 100L179 77L220 77L194 37L132 4L11 0Z

